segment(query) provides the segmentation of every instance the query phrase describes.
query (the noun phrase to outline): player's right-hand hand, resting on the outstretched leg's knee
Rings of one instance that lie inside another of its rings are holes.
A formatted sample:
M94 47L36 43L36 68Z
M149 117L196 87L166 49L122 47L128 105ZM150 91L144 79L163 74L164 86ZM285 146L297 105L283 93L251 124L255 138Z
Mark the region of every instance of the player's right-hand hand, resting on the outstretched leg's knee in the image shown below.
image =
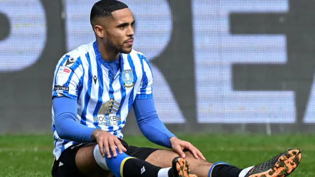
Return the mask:
M171 142L172 149L176 153L178 153L182 158L186 157L186 154L184 153L183 150L187 149L193 154L193 156L196 159L201 158L202 160L206 160L206 158L202 155L202 153L195 146L193 146L190 142L185 142L185 141L180 140L176 137L172 137L170 139L170 142Z

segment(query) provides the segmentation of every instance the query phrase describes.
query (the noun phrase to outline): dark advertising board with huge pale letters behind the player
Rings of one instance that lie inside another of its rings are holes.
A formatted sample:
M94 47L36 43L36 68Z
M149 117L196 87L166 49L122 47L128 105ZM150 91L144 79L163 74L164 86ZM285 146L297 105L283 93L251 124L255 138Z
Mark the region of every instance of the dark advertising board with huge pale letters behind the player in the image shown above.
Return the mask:
M314 132L315 2L123 0L176 132ZM0 2L0 133L51 132L53 72L96 0ZM133 112L125 134L139 134Z

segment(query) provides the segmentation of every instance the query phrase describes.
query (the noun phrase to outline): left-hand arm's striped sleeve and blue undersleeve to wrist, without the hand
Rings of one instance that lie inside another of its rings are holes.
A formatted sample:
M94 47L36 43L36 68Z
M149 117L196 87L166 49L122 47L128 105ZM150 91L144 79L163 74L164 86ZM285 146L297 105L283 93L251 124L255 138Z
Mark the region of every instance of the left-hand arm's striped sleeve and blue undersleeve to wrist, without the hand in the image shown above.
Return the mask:
M52 93L55 128L58 136L74 142L92 142L90 128L76 121L78 88L82 83L81 60L64 56L56 68Z

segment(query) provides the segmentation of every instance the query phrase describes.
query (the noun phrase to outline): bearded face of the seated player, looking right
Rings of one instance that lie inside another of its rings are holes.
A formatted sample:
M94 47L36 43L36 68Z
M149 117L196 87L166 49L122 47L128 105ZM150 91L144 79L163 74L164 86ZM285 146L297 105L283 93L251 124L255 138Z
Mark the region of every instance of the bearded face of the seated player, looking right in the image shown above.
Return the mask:
M105 42L120 53L130 53L133 44L134 19L129 8L112 12L105 25Z

